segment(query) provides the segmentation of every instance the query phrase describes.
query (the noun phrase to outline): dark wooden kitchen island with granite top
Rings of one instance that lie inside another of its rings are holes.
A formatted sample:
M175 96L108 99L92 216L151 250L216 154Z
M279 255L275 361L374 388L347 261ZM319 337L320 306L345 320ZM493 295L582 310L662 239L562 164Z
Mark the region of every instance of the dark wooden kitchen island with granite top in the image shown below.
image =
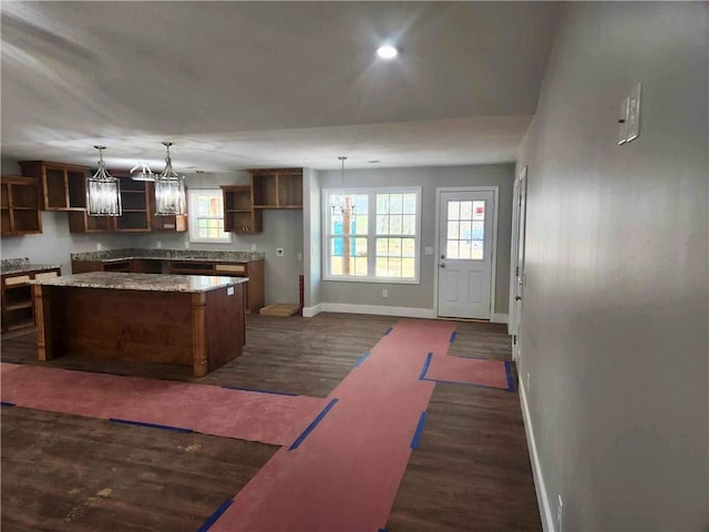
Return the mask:
M105 272L31 282L38 357L174 364L203 377L242 355L247 282Z

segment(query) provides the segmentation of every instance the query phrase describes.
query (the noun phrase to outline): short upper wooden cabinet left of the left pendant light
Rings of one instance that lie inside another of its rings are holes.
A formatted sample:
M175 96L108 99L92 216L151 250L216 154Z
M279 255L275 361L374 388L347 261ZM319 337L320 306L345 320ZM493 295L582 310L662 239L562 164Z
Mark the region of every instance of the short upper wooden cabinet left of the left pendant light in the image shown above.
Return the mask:
M42 190L41 206L45 211L86 208L86 166L45 161L22 161L22 175L34 177Z

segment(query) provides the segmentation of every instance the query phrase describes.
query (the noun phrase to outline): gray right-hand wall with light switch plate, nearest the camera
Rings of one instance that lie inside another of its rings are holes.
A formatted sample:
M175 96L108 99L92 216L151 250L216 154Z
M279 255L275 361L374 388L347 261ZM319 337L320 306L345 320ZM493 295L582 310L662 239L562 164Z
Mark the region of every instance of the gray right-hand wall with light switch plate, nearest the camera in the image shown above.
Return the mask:
M565 531L709 526L707 122L707 3L565 7L518 161L520 374Z

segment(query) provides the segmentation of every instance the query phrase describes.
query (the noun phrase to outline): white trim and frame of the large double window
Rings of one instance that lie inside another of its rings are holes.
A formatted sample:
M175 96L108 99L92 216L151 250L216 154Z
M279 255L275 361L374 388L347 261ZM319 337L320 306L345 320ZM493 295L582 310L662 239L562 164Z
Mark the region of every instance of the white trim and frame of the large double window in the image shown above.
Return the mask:
M368 211L368 225L367 235L352 235L352 237L366 237L367 238L367 269L369 272L376 272L376 238L377 238L377 212L376 212L376 195L377 194L407 194L415 193L417 195L417 234L414 242L414 278L401 278L401 277L374 277L369 275L367 277L356 276L338 276L330 275L330 243L329 243L329 200L330 194L367 194L369 195L369 211ZM361 188L322 188L322 280L335 280L341 283L386 283L398 285L419 285L421 284L421 218L423 213L421 212L421 195L422 190L420 186L370 186Z

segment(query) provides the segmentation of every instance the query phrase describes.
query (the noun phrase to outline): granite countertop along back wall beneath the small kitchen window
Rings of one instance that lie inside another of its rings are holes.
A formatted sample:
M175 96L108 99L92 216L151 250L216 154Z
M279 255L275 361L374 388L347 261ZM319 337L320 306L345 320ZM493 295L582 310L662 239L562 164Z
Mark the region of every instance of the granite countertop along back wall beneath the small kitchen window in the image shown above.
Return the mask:
M210 263L248 263L263 260L265 252L206 252L198 249L146 249L125 248L104 252L72 253L72 260L127 260L132 258L154 258L158 260L205 260Z

